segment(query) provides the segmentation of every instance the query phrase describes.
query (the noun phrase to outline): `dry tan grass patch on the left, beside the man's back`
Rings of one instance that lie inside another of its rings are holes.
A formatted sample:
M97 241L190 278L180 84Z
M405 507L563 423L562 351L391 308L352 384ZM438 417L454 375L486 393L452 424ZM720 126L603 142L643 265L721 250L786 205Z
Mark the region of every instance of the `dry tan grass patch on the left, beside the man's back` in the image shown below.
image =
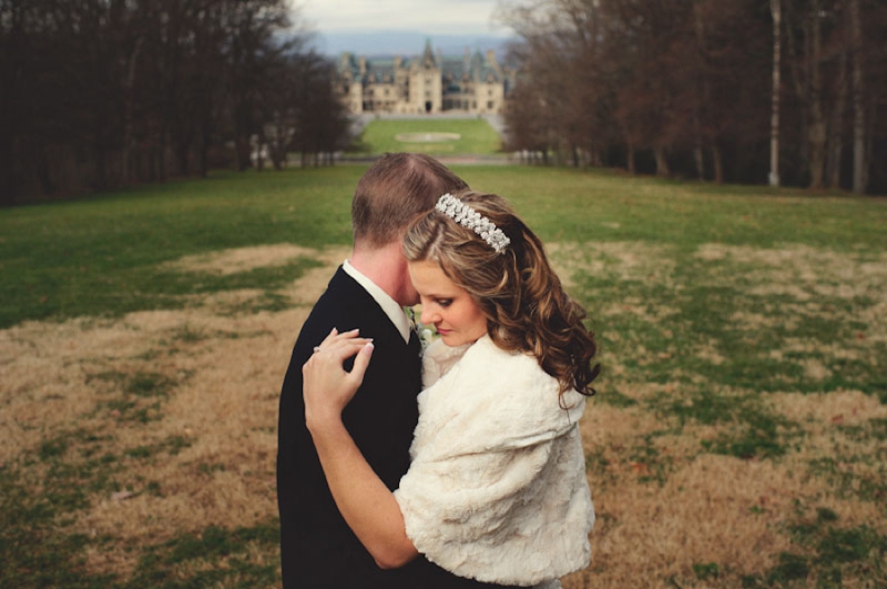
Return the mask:
M176 437L190 444L175 456L159 453L131 464L123 483L132 497L94 496L92 507L78 514L74 531L119 539L110 549L90 548L94 571L131 572L140 554L126 547L208 525L249 526L276 512L279 386L309 305L347 250L259 247L180 263L227 273L306 255L324 266L286 290L293 307L282 313L217 313L261 294L243 291L182 311L30 322L0 332L0 463L74 426L109 436L103 450L115 455ZM121 397L119 378L104 378L109 374L161 375L177 385L162 399L161 418L142 424L103 405ZM147 483L159 484L161 494L145 492Z

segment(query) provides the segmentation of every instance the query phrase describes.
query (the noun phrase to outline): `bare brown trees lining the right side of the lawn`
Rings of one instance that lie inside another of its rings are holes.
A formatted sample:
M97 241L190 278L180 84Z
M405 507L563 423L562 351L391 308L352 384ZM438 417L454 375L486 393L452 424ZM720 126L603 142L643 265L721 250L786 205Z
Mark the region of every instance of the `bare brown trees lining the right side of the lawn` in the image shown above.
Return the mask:
M511 149L631 173L887 191L883 0L498 8L520 39Z

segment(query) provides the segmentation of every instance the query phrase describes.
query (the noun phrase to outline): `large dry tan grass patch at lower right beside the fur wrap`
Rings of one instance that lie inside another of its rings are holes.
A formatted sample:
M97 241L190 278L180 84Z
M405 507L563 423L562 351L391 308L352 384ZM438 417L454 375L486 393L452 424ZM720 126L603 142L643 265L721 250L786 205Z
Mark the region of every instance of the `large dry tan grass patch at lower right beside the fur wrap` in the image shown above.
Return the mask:
M876 505L836 497L827 483L805 473L810 459L835 455L829 426L885 417L887 408L859 393L775 395L773 404L806 423L809 444L803 450L778 461L701 454L701 440L715 438L722 428L685 427L654 441L673 468L664 485L650 480L652 465L631 458L639 440L662 423L636 407L593 405L582 424L585 449L608 460L603 477L590 476L599 517L594 554L592 566L569 577L564 587L663 587L669 578L681 587L708 587L693 572L694 565L707 562L732 569L717 587L741 587L741 576L765 573L778 554L792 549L786 526L797 518L799 504L832 509L846 526L886 531ZM874 468L868 474L877 476Z

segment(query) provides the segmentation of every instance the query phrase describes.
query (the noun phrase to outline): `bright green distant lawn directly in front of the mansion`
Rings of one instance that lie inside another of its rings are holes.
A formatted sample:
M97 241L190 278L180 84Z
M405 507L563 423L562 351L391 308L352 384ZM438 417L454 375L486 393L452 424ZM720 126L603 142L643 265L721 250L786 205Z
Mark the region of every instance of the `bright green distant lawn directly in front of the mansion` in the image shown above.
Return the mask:
M415 141L416 134L424 133L455 133L459 139ZM407 136L398 139L398 135ZM359 153L410 151L431 155L490 155L500 151L501 139L482 119L379 119L367 124L358 144L363 145Z

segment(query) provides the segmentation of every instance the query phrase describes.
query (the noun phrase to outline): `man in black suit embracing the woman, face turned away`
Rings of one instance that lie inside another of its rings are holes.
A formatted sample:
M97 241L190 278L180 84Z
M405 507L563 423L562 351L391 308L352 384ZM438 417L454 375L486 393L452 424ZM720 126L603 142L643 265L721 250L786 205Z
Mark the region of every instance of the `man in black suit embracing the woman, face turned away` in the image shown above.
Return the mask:
M317 301L296 341L281 392L277 504L285 589L479 587L418 558L381 570L339 515L305 426L302 366L335 327L374 341L373 362L343 413L348 431L389 489L409 467L418 420L420 345L404 313L418 302L400 240L410 220L466 183L436 160L392 153L357 183L354 248Z

